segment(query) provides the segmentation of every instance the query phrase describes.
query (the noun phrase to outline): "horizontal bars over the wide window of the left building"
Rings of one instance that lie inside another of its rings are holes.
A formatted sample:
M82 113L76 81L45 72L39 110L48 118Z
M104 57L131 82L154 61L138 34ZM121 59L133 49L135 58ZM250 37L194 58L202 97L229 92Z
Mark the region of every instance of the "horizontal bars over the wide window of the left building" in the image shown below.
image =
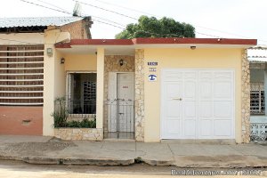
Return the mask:
M44 45L0 46L0 105L43 105Z

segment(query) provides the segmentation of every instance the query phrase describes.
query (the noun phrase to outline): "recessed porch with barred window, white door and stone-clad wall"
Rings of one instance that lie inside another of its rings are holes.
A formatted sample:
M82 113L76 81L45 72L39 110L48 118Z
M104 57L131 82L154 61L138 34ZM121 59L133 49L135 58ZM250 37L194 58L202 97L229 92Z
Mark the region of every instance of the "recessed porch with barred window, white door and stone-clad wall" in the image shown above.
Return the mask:
M56 48L57 95L66 96L69 121L95 119L101 138L142 141L142 50L111 48Z

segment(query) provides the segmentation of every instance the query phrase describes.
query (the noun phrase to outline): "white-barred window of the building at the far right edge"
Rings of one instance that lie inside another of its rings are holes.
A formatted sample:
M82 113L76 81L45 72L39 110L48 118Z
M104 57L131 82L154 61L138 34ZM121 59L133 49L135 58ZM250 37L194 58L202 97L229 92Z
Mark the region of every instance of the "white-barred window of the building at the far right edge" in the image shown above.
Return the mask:
M250 113L252 115L261 115L265 113L263 83L250 84Z

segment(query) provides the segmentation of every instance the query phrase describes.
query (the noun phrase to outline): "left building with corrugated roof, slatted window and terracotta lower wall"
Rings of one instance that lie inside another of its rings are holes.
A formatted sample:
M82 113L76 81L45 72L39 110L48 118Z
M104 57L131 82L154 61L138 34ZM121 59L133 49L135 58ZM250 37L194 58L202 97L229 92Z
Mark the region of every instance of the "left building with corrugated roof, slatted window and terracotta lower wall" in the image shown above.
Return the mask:
M54 44L91 38L92 23L91 17L0 19L0 134L44 134L43 117L53 111L44 93L53 87L45 75L54 73L47 65L59 55Z

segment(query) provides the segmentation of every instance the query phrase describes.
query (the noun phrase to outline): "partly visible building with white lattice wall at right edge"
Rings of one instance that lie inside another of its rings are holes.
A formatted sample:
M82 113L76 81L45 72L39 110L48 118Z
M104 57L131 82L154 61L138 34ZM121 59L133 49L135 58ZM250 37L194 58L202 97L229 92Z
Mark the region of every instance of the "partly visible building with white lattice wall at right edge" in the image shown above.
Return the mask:
M251 140L267 141L267 46L255 46L248 50L250 62L250 122Z

